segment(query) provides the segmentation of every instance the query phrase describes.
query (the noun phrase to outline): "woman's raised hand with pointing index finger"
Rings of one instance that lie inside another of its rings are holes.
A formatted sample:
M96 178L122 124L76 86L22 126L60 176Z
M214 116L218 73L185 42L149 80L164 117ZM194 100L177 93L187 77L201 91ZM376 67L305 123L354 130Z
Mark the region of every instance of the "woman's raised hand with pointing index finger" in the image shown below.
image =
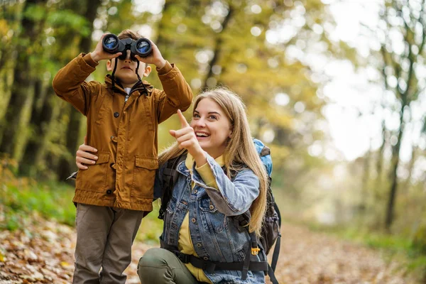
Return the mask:
M198 143L194 129L190 126L190 124L188 124L180 109L178 109L178 116L182 128L179 130L169 130L170 135L176 138L176 141L178 141L179 144L179 148L187 149L192 157L194 157L197 166L200 167L207 163L204 150L202 150L200 143Z

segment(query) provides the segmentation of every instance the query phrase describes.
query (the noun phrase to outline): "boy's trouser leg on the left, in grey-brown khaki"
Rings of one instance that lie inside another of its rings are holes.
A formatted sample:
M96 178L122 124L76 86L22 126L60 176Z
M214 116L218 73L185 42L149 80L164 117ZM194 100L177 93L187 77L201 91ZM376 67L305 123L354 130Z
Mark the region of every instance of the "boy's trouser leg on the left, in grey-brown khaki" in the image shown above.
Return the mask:
M113 214L109 207L77 204L77 244L72 283L99 283L99 269L112 221Z

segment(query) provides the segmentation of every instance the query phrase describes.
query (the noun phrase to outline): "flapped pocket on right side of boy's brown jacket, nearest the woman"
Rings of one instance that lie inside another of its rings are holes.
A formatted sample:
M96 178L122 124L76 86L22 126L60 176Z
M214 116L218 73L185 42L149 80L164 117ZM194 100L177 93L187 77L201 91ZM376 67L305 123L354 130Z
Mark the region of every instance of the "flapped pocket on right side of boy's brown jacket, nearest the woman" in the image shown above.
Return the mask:
M158 158L135 156L132 197L154 197L155 170L158 170Z

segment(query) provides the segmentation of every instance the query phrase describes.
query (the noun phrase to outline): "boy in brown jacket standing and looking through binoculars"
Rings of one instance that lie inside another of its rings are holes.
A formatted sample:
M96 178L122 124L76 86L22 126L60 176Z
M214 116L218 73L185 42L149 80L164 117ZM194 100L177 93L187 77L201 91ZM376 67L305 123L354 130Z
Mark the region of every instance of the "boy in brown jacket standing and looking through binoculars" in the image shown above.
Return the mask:
M164 60L152 42L152 53L146 58L136 55L133 61L126 50L115 76L107 75L104 84L84 82L99 60L108 59L111 71L121 55L103 50L105 35L92 53L77 56L53 80L58 97L87 116L87 143L98 149L99 156L95 165L77 174L73 283L126 282L123 272L131 262L133 239L143 214L153 208L158 124L178 109L185 111L192 101L192 91L178 67ZM125 38L141 36L125 30L119 39ZM164 91L138 80L138 75L151 72L148 64L157 67Z

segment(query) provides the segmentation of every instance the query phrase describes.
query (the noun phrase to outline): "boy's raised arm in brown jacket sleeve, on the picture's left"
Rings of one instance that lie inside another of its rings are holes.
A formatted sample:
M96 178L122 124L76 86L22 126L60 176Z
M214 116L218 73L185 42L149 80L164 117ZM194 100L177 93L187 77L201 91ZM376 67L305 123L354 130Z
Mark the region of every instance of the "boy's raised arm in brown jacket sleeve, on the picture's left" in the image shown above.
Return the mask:
M87 115L90 104L90 94L98 84L84 82L98 65L90 54L80 54L65 67L58 71L52 86L61 99L70 102L78 111Z

